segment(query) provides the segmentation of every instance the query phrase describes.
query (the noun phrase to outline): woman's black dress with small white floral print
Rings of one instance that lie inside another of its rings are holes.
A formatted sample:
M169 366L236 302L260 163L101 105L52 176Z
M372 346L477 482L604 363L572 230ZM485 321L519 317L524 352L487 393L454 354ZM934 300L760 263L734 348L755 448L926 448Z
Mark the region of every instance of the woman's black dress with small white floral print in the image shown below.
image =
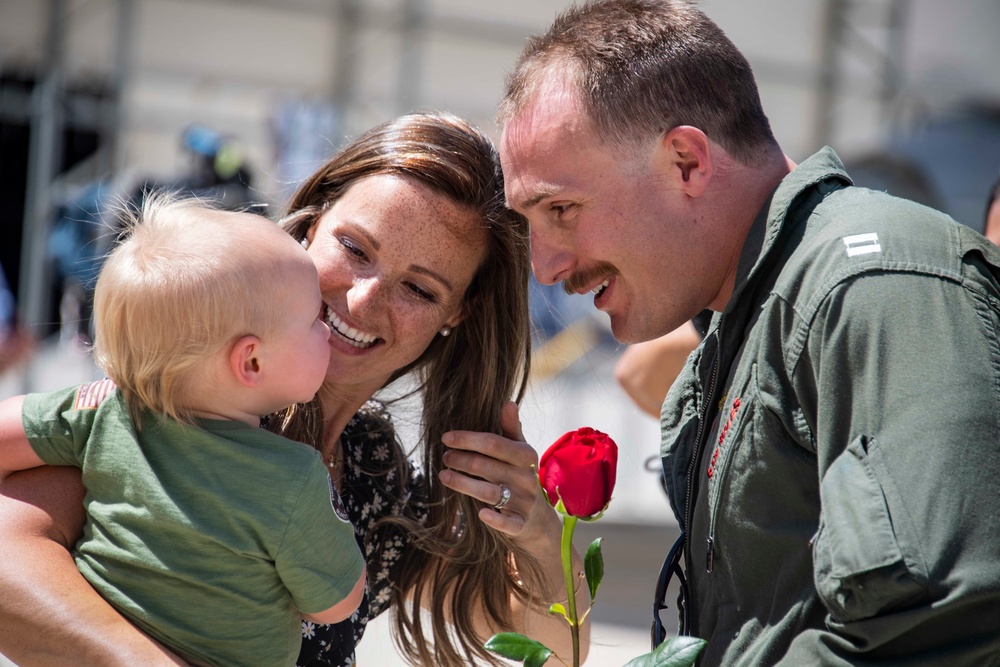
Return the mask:
M365 404L344 428L341 443L344 478L340 495L365 554L368 583L361 606L346 621L336 625L302 622L302 650L296 662L300 667L354 664L354 647L368 621L388 607L394 567L409 548L406 534L397 527L370 531L379 519L388 516L407 515L421 521L427 517L420 495L423 485L412 463L405 468L407 479L399 479L397 462L403 452L384 405L376 401Z

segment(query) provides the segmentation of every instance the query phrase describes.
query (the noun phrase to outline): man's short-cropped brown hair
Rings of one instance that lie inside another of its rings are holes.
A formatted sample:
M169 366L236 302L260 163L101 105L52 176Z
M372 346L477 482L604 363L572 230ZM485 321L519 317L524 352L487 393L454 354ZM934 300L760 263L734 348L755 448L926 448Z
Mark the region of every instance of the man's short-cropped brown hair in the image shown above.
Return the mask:
M692 125L744 164L777 148L750 64L687 2L599 0L563 12L529 39L508 77L500 124L552 75L569 77L609 145Z

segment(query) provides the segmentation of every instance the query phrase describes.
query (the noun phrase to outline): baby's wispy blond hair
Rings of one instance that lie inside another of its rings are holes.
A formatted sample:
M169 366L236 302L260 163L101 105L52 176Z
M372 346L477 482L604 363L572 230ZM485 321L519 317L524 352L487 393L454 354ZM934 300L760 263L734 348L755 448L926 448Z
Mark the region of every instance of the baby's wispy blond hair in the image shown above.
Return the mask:
M137 427L143 408L190 422L197 406L185 398L201 362L278 324L268 270L277 258L241 243L239 218L202 200L158 192L124 219L95 288L94 360Z

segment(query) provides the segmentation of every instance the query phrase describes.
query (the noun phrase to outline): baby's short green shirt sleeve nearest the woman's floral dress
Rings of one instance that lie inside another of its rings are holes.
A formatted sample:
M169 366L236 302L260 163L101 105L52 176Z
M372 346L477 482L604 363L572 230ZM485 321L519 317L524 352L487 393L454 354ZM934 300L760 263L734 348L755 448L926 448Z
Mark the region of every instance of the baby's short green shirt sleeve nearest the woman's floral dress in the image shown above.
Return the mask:
M275 556L278 576L305 614L325 611L343 600L364 570L354 527L346 514L338 516L331 491L326 466L317 457Z

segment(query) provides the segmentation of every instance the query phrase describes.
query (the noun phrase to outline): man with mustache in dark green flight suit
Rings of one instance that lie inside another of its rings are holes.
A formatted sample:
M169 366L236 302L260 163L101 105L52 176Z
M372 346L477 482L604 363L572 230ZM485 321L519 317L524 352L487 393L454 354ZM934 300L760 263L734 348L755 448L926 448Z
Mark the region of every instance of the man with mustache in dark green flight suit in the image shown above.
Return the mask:
M997 664L1000 250L793 162L681 0L567 10L499 117L539 282L628 343L715 311L660 420L701 664Z

